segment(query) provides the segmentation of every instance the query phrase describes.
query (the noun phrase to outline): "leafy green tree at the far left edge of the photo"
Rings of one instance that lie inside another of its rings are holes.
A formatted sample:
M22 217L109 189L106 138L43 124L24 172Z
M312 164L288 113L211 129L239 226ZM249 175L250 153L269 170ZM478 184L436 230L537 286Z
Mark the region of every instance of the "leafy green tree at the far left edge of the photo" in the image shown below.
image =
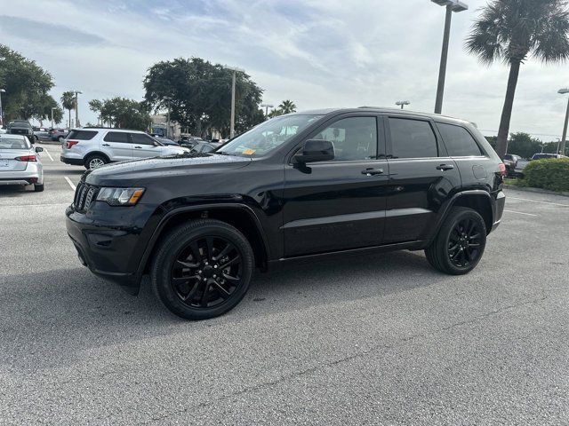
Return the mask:
M47 94L52 87L52 75L35 61L0 44L0 88L6 91L2 94L6 120L44 116L45 107L52 105L53 99Z

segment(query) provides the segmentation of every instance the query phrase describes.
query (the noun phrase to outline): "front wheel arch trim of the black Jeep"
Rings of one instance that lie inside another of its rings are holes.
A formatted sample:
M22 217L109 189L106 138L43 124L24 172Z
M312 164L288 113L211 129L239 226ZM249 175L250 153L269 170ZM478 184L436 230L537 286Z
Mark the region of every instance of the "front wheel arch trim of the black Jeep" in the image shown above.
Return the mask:
M267 269L268 264L268 241L262 231L260 220L255 212L244 204L207 204L180 207L167 213L156 226L156 230L148 241L147 248L140 259L139 275L147 273L151 260L156 253L160 241L164 235L176 225L180 225L188 220L199 218L217 219L234 226L244 234L250 242L255 266L261 270Z

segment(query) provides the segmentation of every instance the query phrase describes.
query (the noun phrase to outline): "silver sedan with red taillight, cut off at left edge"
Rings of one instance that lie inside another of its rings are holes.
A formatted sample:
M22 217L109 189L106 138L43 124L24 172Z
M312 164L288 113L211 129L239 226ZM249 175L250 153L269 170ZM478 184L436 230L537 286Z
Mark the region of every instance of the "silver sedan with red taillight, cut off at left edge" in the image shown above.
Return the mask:
M34 185L36 193L44 191L44 168L28 135L0 134L0 185Z

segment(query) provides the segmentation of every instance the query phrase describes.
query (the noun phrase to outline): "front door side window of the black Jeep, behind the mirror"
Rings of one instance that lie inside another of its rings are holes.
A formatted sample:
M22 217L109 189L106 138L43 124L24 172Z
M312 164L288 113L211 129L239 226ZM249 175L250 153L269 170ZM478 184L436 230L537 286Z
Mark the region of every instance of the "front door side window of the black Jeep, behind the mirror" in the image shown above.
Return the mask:
M377 158L377 122L375 117L349 117L320 131L315 139L325 139L334 146L334 161L346 162Z

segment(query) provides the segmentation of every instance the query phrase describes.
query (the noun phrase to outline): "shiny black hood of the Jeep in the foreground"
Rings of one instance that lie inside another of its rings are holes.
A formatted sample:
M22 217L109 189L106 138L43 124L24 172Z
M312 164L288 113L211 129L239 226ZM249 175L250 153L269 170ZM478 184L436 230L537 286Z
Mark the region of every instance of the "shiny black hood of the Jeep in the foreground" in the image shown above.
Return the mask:
M84 180L92 185L127 186L159 177L220 173L250 163L249 158L231 155L183 153L107 164L99 169L87 170Z

